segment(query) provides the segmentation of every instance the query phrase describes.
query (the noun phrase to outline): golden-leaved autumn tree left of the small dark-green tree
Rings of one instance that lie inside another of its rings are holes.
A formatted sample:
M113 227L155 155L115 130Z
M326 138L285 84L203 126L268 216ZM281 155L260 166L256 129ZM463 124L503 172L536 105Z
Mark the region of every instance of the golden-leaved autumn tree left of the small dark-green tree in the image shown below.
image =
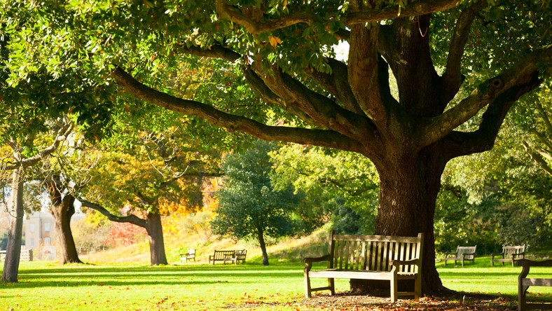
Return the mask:
M198 209L203 178L220 174L218 151L201 143L184 127L106 139L78 200L111 221L145 228L151 264L167 264L161 216Z

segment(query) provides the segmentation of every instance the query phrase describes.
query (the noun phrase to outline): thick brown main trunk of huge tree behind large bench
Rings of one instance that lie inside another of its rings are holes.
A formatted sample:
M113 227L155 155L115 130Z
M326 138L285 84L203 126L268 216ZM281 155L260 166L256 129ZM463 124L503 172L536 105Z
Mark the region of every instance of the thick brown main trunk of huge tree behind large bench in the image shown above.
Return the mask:
M378 167L380 205L374 234L416 236L418 233L424 233L423 293L446 291L435 267L433 230L435 201L441 188L441 174L446 165L446 159L441 156L439 150L439 146L434 144L422 149L418 156L412 159L403 159L392 165ZM369 291L374 286L378 287L373 282L351 282L353 291ZM389 289L389 284L386 286Z

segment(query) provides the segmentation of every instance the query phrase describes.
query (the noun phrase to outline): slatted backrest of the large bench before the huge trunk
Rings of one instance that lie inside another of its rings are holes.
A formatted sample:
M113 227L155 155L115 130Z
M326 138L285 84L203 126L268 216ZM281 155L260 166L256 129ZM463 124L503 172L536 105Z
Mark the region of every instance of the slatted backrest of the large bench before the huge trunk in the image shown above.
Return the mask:
M418 237L389 235L336 235L330 231L330 268L390 271L392 260L420 259L423 233ZM416 265L401 265L399 272L418 272Z

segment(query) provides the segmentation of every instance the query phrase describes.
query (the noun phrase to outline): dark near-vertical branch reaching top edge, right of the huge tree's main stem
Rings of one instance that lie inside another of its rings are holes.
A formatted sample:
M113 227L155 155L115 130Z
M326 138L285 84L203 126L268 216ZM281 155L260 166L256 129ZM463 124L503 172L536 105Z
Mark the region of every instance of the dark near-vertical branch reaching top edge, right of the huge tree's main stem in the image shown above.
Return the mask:
M456 22L456 26L453 33L453 39L450 41L450 48L448 49L448 58L446 64L446 71L443 74L443 83L445 85L445 101L455 97L460 85L462 84L462 74L460 73L460 65L462 62L462 55L464 55L464 47L469 38L469 30L473 24L476 15L485 7L487 3L485 1L476 1L460 13L460 17Z

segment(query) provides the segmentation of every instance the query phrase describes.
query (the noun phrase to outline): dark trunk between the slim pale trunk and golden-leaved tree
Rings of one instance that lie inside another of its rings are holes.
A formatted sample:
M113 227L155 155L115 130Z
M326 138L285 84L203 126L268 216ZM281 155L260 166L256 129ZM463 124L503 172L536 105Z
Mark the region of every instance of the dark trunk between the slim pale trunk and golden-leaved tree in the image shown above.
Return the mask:
M72 195L65 195L61 200L61 193L57 191L57 188L53 191L50 189L50 195L52 199L50 214L54 216L55 230L60 241L60 263L62 265L65 263L82 263L78 258L75 240L71 232L71 216L75 214L75 198Z

